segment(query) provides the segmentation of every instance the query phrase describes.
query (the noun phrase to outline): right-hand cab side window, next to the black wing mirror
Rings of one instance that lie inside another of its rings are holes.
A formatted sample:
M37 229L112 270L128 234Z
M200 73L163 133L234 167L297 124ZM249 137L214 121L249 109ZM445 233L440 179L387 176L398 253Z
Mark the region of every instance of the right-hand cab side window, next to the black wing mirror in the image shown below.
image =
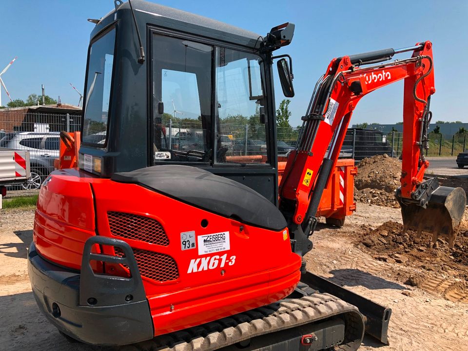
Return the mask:
M262 59L252 53L216 48L216 162L269 163ZM223 136L231 136L227 142Z

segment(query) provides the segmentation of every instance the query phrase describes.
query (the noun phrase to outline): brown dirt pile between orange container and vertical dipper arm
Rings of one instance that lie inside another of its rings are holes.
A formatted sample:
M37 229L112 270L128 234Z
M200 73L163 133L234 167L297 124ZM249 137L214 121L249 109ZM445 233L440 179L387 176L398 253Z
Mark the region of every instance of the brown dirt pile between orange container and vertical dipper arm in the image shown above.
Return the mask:
M354 200L379 206L400 207L394 193L400 186L401 162L388 155L364 158L354 177Z

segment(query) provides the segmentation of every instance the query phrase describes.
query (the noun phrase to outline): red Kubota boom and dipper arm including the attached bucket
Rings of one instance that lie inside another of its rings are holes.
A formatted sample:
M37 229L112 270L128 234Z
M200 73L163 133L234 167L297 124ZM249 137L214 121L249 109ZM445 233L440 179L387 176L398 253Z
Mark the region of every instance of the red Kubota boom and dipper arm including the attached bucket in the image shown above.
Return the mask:
M390 60L396 53L408 51L412 51L409 59L380 63ZM305 254L312 248L308 236L317 223L315 214L320 198L338 159L357 103L372 91L402 79L402 173L401 188L396 195L402 205L405 231L412 227L418 227L418 231L428 229L421 224L425 220L420 208L427 208L432 193L438 188L446 188L439 187L437 179L423 180L429 167L424 156L424 150L429 148L429 103L430 96L435 93L430 41L399 50L385 49L332 59L325 74L317 81L307 113L302 117L296 148L288 157L279 187L280 209L290 224L294 252ZM445 214L452 231L458 225L466 204L465 194L457 189L460 188L446 189L443 192L445 197L438 201L446 210L448 207L455 209ZM447 204L444 201L450 194L456 201ZM441 228L429 227L429 230L441 231Z

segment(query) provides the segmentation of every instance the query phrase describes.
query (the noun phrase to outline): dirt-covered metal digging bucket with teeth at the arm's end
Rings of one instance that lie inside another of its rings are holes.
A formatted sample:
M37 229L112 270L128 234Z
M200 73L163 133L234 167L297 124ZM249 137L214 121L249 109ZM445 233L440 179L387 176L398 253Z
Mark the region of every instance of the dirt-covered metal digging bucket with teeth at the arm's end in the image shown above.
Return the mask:
M417 203L407 203L401 197L401 189L398 188L395 197L401 206L403 217L403 233L409 229L417 231L416 239L419 240L422 232L432 233L432 245L435 247L437 237L444 236L449 247L453 247L453 241L457 234L457 228L463 218L467 195L462 188L437 187L426 204L426 208Z

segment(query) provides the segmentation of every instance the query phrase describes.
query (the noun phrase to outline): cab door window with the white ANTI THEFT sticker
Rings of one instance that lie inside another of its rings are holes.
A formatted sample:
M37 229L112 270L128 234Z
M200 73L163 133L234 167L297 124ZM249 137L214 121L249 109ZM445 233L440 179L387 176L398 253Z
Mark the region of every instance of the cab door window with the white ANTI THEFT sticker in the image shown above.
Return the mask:
M213 50L209 45L154 34L154 163L212 161Z

